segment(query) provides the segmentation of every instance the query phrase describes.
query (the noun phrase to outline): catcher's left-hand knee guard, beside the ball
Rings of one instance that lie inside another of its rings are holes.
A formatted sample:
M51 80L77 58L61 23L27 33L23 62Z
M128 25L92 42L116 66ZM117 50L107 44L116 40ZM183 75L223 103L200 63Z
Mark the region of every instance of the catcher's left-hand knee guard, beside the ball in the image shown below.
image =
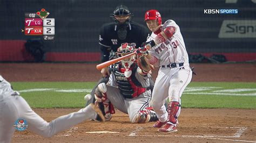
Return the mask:
M95 89L95 99L97 102L105 102L107 99L107 95L106 95L106 84L105 83L100 83L97 88Z

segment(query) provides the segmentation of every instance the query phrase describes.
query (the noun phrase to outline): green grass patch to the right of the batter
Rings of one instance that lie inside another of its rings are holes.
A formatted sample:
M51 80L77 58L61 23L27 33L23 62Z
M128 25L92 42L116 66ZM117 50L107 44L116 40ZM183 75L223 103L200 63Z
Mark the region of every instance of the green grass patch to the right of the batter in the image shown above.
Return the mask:
M256 89L256 83L248 82L192 82L188 87L221 87L219 89ZM240 94L255 93L255 91L242 91ZM185 92L186 93L186 92ZM256 96L228 96L228 95L192 95L183 94L181 98L183 108L239 108L256 109Z

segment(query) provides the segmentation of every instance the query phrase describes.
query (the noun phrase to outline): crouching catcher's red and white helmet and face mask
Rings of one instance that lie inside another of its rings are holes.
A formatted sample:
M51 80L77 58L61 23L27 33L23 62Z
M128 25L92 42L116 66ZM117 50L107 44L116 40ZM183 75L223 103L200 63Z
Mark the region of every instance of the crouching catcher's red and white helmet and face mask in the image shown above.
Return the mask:
M124 55L130 54L134 52L134 47L131 44L123 43L121 46L117 49L117 56L122 57ZM136 55L131 55L123 60L121 60L122 66L125 68L130 68L132 63L136 60Z

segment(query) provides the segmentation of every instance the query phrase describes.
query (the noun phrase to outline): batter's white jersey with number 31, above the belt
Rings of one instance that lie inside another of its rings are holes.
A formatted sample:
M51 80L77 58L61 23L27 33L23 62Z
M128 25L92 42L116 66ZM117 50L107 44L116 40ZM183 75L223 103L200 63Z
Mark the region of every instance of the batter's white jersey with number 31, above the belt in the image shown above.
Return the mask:
M183 63L188 65L188 55L183 37L180 33L179 26L173 20L167 20L162 25L162 30L168 26L176 28L175 33L170 39L165 42L158 44L151 48L149 51L152 55L156 56L160 60L160 66L169 65L170 63ZM152 32L151 36L147 41L153 40L157 37L157 34Z

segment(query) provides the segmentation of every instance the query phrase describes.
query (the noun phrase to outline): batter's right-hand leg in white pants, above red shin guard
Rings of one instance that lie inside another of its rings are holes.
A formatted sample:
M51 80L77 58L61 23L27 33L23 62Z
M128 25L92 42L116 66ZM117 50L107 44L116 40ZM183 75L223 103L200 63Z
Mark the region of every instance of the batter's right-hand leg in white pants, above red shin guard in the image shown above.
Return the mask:
M177 72L171 77L170 87L169 87L169 101L170 102L179 102L181 105L181 95L183 91L190 83L192 78L192 70L189 66L184 66L183 68L177 68ZM179 108L176 116L179 117L181 108Z

